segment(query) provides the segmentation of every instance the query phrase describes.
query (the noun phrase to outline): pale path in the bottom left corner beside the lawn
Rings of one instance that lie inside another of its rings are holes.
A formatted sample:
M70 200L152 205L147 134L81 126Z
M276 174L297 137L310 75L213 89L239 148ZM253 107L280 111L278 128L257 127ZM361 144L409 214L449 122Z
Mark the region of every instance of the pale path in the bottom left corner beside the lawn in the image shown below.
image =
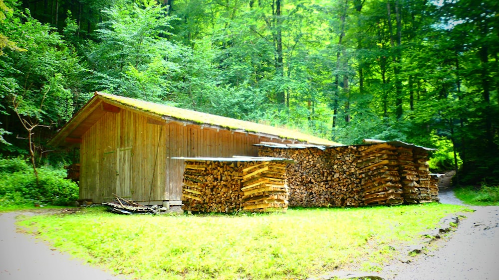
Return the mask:
M98 268L70 259L36 240L16 232L15 217L31 212L0 214L0 280L120 280Z

